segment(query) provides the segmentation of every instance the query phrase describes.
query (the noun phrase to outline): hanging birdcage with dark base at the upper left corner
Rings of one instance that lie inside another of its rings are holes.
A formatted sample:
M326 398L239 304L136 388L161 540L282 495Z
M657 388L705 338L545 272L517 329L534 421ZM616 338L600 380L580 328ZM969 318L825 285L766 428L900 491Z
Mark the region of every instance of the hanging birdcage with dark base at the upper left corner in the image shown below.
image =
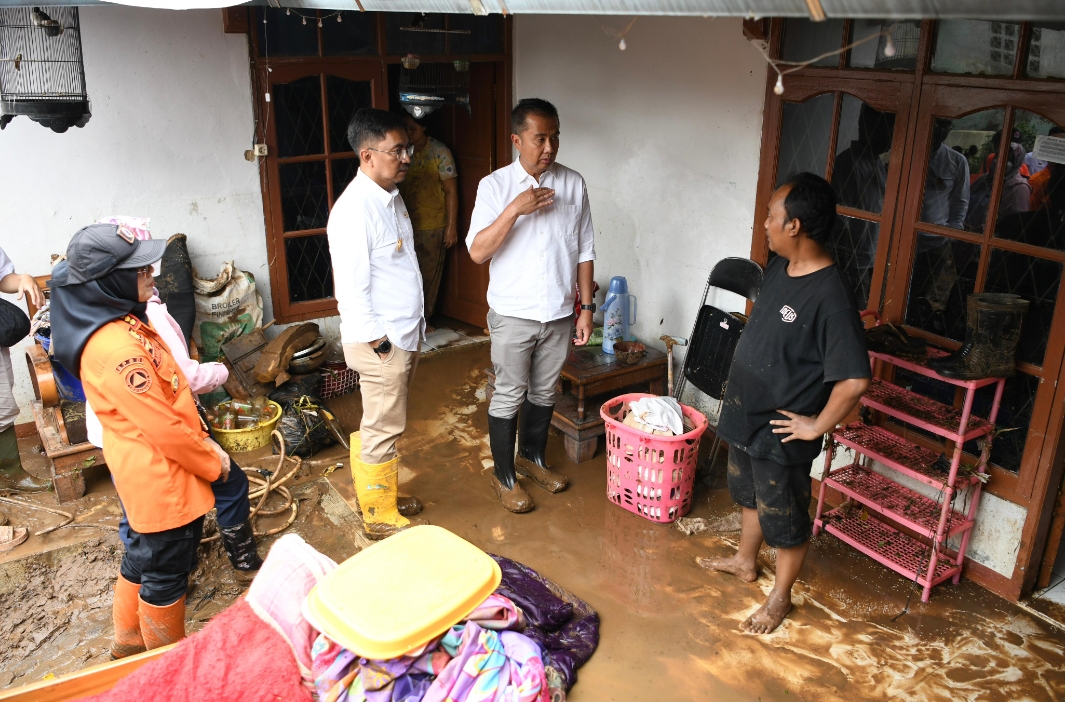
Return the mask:
M89 118L77 7L0 7L0 129L19 115L65 132Z

